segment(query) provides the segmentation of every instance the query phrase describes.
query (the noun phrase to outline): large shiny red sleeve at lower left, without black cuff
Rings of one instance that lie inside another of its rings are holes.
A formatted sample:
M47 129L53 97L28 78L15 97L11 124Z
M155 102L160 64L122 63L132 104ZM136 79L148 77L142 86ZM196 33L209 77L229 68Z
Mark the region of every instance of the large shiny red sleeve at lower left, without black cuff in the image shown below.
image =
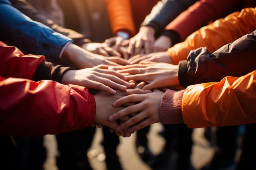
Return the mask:
M79 130L95 119L87 88L0 76L0 135L41 136Z

